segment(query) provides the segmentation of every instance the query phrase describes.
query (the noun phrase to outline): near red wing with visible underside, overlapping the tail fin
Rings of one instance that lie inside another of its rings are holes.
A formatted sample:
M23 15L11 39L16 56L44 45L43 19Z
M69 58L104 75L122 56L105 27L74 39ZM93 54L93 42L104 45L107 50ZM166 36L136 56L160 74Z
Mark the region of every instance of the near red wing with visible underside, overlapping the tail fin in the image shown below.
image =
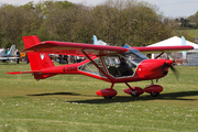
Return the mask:
M55 42L45 41L30 46L24 52L40 52L48 54L69 54L69 55L82 55L86 52L88 55L107 55L127 52L127 48L118 46L105 46L82 43L70 43L70 42Z

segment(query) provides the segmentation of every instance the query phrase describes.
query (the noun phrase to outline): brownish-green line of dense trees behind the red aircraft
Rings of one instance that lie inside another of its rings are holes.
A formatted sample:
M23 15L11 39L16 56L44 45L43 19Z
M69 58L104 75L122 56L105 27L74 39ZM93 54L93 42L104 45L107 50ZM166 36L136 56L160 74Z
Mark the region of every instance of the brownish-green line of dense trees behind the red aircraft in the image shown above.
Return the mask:
M22 50L25 35L90 44L97 35L110 45L145 46L173 36L176 25L157 7L138 0L107 0L96 7L68 1L1 4L0 46Z

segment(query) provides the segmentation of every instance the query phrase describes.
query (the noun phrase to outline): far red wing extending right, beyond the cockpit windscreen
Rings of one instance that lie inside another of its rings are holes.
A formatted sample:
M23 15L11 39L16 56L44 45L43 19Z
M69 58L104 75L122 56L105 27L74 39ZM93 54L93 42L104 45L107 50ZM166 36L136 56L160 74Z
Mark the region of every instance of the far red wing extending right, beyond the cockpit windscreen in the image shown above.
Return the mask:
M162 52L178 52L178 51L188 51L194 50L194 46L190 45L180 45L180 46L145 46L145 47L131 47L140 51L144 54L152 53L162 53Z

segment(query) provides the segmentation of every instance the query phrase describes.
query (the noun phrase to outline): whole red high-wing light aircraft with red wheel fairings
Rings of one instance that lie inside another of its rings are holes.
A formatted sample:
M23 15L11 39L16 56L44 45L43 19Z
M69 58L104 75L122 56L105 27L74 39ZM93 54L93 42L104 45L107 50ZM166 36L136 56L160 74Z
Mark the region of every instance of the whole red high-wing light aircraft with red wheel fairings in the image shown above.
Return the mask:
M163 90L160 85L154 85L153 79L160 79L167 75L173 61L160 59L158 57L167 51L187 51L193 46L147 46L147 47L119 47L92 45L70 42L45 41L41 42L37 36L23 36L25 45L24 52L28 52L31 72L13 72L7 74L33 74L34 78L45 79L58 74L86 75L97 79L111 82L110 88L97 91L98 96L105 99L111 99L117 95L113 89L114 84L124 82L129 88L124 92L132 96L140 96L143 92L156 97ZM161 52L155 59L148 59L142 53ZM48 54L69 54L84 55L86 61L76 64L54 66ZM151 86L142 89L131 87L128 82L152 80Z

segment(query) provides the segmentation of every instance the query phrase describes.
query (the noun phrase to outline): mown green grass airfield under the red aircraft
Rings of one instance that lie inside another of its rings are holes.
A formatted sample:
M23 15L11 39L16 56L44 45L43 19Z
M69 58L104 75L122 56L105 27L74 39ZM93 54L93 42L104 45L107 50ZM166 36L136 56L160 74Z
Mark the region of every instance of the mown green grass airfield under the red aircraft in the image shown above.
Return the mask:
M118 96L105 100L97 90L110 84L86 76L58 75L36 81L32 75L7 75L30 70L26 64L0 64L0 131L2 132L197 132L198 67L177 66L160 79L164 91L157 98L147 94ZM131 82L144 88L151 81Z

